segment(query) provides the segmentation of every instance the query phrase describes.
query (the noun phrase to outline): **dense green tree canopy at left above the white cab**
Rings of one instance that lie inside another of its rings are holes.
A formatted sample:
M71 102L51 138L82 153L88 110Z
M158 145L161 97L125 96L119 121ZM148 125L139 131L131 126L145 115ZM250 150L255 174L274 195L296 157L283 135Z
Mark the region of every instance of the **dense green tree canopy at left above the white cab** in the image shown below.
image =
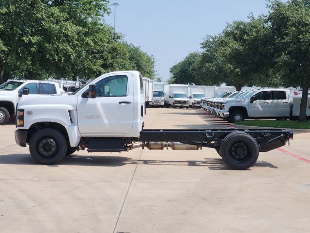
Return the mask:
M109 0L1 0L0 74L8 78L94 78L134 68L151 56L104 22ZM134 51L136 50L136 51Z

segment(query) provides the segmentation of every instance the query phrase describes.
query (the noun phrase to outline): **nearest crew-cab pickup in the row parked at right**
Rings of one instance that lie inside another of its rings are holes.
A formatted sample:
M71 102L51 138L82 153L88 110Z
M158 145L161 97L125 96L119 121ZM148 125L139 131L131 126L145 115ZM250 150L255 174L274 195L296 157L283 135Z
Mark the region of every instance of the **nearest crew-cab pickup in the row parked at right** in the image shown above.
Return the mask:
M293 99L287 89L263 89L242 98L219 100L216 106L216 115L231 123L249 118L280 119L292 117Z

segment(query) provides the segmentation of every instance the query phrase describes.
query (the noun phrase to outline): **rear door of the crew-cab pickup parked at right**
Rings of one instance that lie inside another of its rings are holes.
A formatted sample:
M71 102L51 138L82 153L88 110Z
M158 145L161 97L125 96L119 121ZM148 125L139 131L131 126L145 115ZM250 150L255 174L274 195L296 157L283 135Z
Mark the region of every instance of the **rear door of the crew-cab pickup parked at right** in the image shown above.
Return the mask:
M290 116L289 97L285 91L271 91L270 116Z

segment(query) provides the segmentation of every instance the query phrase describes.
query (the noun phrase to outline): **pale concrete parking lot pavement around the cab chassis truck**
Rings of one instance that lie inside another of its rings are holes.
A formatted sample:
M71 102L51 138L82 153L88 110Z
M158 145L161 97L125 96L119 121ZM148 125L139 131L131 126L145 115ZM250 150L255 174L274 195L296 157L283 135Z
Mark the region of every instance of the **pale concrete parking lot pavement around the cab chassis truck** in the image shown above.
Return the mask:
M202 109L147 108L146 129L224 128ZM1 233L309 233L310 131L231 170L216 150L78 151L36 164L0 126Z

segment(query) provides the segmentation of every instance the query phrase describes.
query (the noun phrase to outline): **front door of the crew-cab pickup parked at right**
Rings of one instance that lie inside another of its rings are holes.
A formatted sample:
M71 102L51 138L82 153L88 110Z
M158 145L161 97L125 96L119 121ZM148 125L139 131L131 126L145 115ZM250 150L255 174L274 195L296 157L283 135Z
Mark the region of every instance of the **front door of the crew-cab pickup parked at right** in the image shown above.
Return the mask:
M270 101L268 91L256 93L256 100L248 103L249 116L270 116Z

